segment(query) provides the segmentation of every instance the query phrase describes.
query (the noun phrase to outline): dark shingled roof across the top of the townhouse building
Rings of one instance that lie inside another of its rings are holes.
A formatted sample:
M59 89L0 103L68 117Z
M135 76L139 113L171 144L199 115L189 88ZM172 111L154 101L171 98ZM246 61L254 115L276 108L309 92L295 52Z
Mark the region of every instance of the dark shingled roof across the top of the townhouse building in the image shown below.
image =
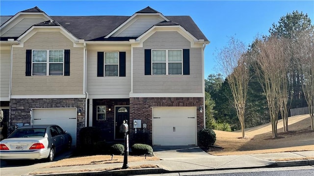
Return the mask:
M22 12L43 12L37 6ZM146 7L136 13L160 13L151 7ZM135 14L136 14L135 13ZM0 16L1 25L12 16ZM104 38L114 29L119 27L131 16L50 16L53 21L42 22L35 26L63 26L66 30L85 41L129 41L134 37L109 37ZM208 41L203 32L194 23L190 16L165 16L170 22L160 22L156 25L181 25L197 39ZM10 37L12 38L12 37ZM2 40L2 38L1 38Z

